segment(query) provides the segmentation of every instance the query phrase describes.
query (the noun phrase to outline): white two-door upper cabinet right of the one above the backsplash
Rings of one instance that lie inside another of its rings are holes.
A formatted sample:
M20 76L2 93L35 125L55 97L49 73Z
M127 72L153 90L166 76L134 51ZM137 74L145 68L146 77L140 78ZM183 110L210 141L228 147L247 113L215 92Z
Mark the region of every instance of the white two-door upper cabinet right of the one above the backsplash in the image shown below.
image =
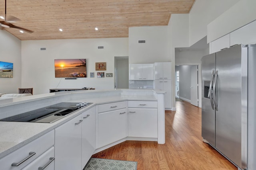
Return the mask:
M155 80L172 80L172 63L154 63Z

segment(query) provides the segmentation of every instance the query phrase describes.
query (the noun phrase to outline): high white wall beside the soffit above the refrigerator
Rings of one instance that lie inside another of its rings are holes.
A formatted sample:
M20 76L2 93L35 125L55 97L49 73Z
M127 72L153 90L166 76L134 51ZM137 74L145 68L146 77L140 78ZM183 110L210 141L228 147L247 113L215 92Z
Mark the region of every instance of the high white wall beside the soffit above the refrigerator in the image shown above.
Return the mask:
M239 0L196 0L189 14L190 46L207 35L207 25L236 4ZM253 0L254 1L254 0ZM244 16L238 9L237 15ZM228 21L226 24L229 24ZM221 25L216 25L222 27Z

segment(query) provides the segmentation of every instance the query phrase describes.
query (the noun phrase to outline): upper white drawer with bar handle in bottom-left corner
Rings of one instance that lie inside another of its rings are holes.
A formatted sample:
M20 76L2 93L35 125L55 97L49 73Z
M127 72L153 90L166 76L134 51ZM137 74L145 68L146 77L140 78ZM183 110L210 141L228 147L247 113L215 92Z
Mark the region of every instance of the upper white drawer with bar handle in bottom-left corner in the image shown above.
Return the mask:
M15 150L7 156L0 159L1 169L3 170L20 170L35 160L38 156L54 145L54 130L44 134L34 141ZM32 153L32 152L35 152ZM27 159L25 159L27 158ZM22 162L22 160L24 160ZM22 163L20 163L22 162ZM18 166L12 166L13 163L20 163Z

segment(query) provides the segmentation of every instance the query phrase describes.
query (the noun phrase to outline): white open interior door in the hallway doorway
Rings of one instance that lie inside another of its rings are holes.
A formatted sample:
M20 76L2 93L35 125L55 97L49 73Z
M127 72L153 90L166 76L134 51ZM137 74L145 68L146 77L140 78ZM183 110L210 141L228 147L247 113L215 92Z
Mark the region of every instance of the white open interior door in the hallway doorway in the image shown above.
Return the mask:
M198 107L198 68L191 66L190 103Z

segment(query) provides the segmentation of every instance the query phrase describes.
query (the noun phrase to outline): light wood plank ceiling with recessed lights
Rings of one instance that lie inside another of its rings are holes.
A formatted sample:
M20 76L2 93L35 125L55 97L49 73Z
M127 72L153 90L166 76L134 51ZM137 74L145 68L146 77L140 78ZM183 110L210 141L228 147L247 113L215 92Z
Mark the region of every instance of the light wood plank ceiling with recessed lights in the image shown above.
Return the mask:
M34 33L6 31L21 40L39 40L128 37L128 27L168 25L171 14L189 13L195 0L6 1L7 16L21 20L13 24ZM0 0L0 16L5 13L4 3Z

